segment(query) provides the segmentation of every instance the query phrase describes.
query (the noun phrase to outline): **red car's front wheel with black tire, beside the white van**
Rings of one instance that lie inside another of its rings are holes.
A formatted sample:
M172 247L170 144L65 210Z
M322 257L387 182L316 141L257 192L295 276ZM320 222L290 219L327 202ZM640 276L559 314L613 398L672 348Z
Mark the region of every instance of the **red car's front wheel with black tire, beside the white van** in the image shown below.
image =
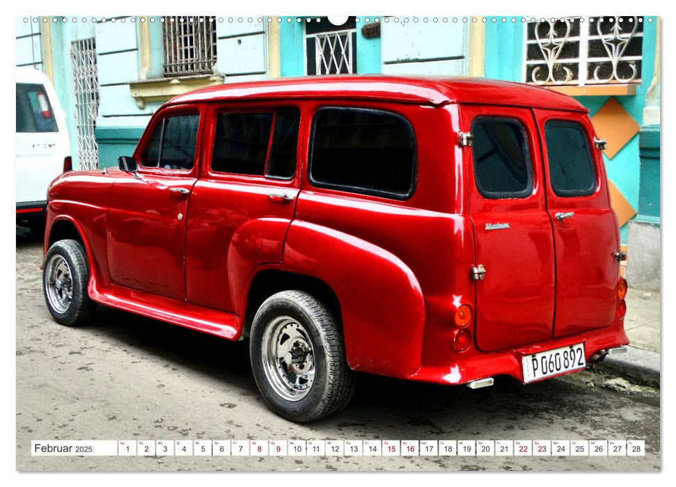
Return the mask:
M96 310L87 292L89 266L82 244L77 240L59 240L45 256L42 292L45 303L57 323L77 326Z

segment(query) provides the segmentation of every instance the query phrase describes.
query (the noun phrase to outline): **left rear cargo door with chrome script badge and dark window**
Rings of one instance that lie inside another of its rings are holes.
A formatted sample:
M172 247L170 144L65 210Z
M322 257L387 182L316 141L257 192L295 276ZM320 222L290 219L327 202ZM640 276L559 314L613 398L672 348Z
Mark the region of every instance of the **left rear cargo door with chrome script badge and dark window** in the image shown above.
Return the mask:
M533 114L468 105L461 118L472 141L463 154L475 234L476 344L494 351L547 340L554 255Z

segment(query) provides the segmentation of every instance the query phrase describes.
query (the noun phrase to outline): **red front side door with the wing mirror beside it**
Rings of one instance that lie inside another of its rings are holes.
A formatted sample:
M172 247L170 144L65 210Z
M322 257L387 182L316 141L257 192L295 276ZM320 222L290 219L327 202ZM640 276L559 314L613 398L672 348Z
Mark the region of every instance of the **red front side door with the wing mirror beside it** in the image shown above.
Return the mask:
M134 153L138 177L113 183L108 260L115 285L185 299L185 223L199 169L203 106L164 109Z

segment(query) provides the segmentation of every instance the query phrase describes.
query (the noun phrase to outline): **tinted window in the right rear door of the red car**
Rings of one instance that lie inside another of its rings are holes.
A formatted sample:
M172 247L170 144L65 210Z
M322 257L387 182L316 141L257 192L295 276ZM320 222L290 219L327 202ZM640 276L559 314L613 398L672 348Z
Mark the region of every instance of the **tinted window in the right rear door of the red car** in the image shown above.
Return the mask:
M596 170L588 138L576 122L550 120L544 125L549 182L558 196L587 196L596 189Z

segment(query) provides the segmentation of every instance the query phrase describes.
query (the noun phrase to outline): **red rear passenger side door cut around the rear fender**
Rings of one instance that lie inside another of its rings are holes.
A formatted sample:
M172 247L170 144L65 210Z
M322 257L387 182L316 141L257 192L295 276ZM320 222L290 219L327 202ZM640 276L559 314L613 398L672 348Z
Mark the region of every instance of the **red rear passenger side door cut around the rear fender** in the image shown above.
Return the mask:
M256 266L279 264L299 192L301 104L210 104L189 205L190 303L237 309Z

